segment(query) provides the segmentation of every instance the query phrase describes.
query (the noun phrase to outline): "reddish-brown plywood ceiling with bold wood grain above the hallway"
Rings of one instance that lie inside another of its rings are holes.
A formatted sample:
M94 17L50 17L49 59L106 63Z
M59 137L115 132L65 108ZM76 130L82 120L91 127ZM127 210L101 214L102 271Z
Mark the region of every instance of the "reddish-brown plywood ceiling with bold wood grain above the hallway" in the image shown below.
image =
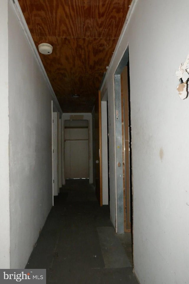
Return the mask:
M19 0L63 112L91 112L132 0ZM80 97L72 98L73 94Z

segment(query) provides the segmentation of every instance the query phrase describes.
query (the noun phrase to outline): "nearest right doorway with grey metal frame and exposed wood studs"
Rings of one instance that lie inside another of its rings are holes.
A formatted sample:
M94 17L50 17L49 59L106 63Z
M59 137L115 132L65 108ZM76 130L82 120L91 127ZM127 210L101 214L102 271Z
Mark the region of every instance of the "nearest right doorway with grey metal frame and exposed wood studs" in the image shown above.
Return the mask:
M133 248L131 101L128 47L114 75L117 232L128 233Z

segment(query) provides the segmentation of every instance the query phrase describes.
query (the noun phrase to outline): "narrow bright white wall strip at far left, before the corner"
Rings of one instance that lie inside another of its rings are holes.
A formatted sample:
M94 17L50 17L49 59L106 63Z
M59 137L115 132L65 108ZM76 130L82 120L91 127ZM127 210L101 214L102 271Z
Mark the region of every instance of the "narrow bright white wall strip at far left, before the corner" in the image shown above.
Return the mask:
M8 0L0 2L0 268L10 268Z

